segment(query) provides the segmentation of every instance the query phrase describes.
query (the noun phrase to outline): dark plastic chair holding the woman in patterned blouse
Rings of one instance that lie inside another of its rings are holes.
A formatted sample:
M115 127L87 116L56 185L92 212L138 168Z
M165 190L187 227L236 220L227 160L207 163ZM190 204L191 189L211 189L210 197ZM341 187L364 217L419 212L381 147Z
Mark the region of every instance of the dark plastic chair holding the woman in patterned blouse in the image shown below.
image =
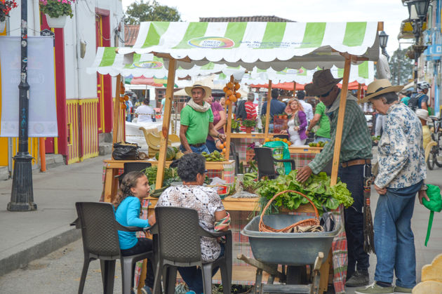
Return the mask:
M175 293L178 267L201 267L204 293L212 293L212 269L220 267L224 294L232 288L232 232L208 232L199 225L198 213L191 208L156 207L158 263L154 293L159 293L161 276L164 293ZM213 262L201 259L201 236L226 237L225 253Z

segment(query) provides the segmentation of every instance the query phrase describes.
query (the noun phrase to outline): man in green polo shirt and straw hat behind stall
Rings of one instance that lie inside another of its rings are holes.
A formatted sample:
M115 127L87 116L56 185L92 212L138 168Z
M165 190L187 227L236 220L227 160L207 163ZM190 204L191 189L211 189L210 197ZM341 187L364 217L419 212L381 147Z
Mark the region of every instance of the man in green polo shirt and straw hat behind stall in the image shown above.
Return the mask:
M226 135L219 133L213 127L213 113L210 104L204 102L212 94L212 89L195 83L186 87L187 95L192 97L180 113L180 149L187 153L210 153L206 146L207 135L226 140Z

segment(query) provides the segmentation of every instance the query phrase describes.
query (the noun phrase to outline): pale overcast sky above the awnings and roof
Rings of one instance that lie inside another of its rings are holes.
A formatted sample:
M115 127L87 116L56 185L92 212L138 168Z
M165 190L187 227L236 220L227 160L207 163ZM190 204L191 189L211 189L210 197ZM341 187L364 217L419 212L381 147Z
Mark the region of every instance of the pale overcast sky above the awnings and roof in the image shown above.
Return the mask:
M122 0L123 10L134 0ZM156 0L175 7L181 19L198 22L199 18L275 15L298 22L382 21L389 35L387 53L399 48L397 36L401 21L408 18L408 9L401 0ZM147 0L145 0L147 2ZM404 40L403 40L404 41ZM401 44L406 48L410 44Z

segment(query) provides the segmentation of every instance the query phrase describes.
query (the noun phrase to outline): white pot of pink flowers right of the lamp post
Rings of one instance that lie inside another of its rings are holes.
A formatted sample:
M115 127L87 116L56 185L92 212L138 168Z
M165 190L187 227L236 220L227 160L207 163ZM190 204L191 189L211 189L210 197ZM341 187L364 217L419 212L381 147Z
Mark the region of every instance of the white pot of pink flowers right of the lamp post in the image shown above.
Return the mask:
M40 11L46 15L49 27L65 27L67 15L71 18L75 0L39 0Z

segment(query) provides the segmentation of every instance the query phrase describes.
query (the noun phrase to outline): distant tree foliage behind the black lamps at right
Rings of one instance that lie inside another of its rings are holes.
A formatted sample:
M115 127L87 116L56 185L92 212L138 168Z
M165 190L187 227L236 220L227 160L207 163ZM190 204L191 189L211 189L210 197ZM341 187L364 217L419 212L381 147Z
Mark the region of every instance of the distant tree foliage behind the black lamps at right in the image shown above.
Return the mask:
M389 65L391 70L391 83L405 85L413 79L414 60L407 57L408 48L397 49L391 56Z

